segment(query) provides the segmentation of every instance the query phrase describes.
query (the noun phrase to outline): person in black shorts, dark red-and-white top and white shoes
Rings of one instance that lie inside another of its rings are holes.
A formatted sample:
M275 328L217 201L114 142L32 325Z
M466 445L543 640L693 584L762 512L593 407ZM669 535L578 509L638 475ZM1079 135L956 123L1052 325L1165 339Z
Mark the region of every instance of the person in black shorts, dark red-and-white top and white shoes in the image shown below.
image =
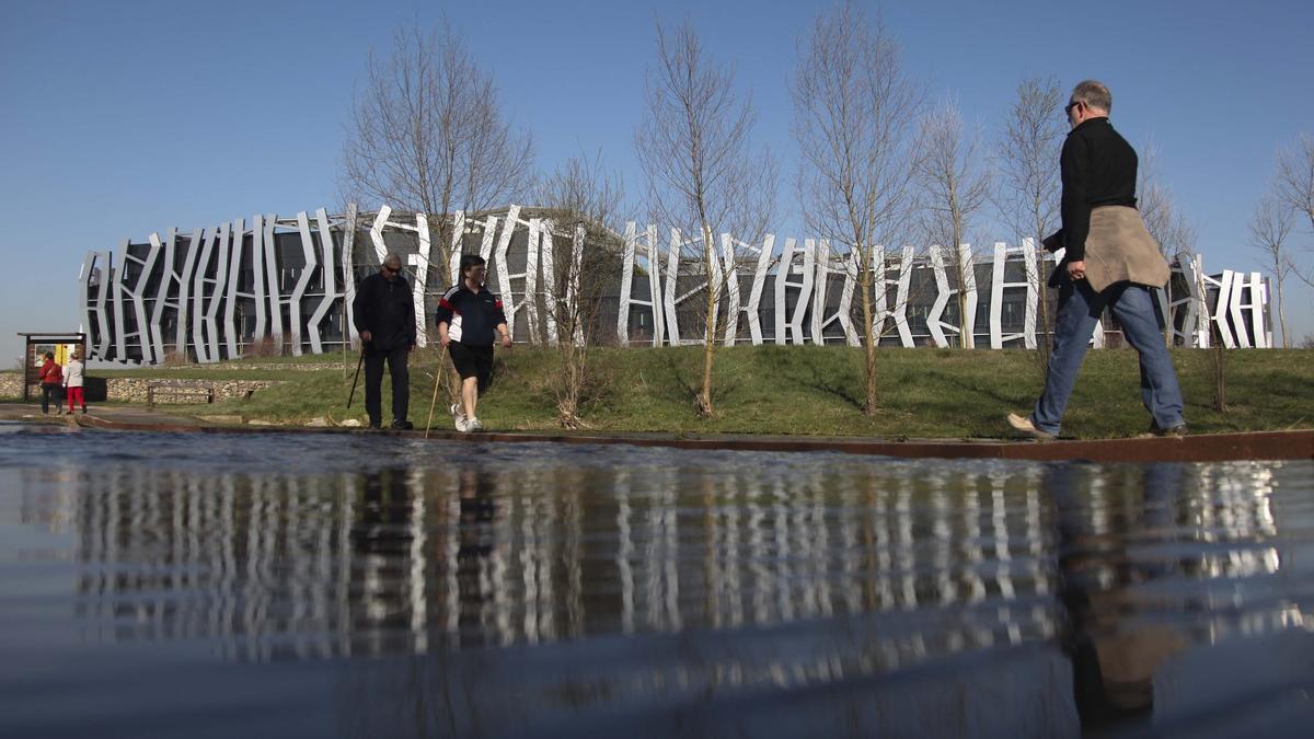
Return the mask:
M484 427L474 416L480 394L487 391L493 375L493 339L501 338L511 348L502 301L484 287L487 264L477 254L461 256L461 281L452 285L438 302L438 338L452 355L452 366L461 375L461 402L452 404L457 431Z

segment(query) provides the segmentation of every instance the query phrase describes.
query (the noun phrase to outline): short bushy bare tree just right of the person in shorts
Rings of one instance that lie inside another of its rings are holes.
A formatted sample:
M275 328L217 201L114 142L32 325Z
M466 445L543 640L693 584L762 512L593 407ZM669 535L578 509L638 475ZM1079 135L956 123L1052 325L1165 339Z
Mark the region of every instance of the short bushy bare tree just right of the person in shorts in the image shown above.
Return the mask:
M614 242L624 189L620 175L606 168L602 155L572 156L539 187L539 203L555 213L553 222L565 230L570 250L557 251L557 279L548 310L560 341L560 375L555 377L557 421L562 427L583 425L581 406L600 391L600 379L590 364L598 310L607 276L615 275ZM586 247L587 245L587 247Z

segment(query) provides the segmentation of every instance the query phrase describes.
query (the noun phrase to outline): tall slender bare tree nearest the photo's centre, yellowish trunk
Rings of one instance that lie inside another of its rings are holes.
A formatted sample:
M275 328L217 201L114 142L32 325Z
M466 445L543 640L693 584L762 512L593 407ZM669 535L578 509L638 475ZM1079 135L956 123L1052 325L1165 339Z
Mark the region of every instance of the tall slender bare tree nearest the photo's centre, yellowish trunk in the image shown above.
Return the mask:
M658 222L698 233L706 277L703 308L703 372L698 413L712 414L712 359L717 304L716 239L732 233L757 241L771 217L774 166L767 153L750 150L757 120L752 101L735 92L735 74L703 50L692 22L675 29L657 22L657 59L645 87L648 109L636 135L639 159L648 176L649 205ZM674 280L675 275L668 275ZM720 317L736 321L737 316Z

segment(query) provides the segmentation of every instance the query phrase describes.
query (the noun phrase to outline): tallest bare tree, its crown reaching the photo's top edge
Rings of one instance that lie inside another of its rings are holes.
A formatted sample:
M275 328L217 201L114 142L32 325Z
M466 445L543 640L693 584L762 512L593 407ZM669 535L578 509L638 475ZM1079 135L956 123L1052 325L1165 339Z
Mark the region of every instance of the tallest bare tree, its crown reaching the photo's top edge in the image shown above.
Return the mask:
M876 410L874 280L884 279L884 246L907 225L909 128L921 88L904 72L899 45L880 20L848 3L819 13L798 42L794 138L804 221L830 243L848 245L862 292L865 400Z

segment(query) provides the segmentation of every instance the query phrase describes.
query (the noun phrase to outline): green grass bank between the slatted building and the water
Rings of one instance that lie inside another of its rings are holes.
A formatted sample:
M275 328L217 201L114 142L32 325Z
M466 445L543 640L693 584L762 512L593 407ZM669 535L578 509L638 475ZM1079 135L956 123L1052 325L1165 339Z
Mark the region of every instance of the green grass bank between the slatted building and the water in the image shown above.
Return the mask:
M602 433L997 438L1004 435L1004 414L1029 412L1042 385L1030 351L882 350L879 412L863 416L861 350L737 346L717 351L716 414L699 418L692 397L702 367L700 347L595 348L590 358L602 391L581 416L590 431ZM1175 350L1173 359L1192 433L1314 427L1314 351L1229 351L1226 413L1212 409L1210 354ZM323 362L325 370L242 368L272 362ZM417 426L423 426L428 416L434 372L440 362L447 366L445 356L432 348L413 355L410 418ZM247 400L170 408L284 423L305 423L315 417L336 422L364 419L363 388L356 388L352 408L346 409L351 371L343 371L342 355L243 360L219 370L95 373L292 380ZM480 402L480 418L491 430L557 430L553 387L558 376L557 354L552 350L498 351L494 385ZM386 423L390 389L386 380L384 385ZM445 405L440 392L435 427L449 425ZM1131 437L1144 431L1148 422L1141 405L1135 352L1091 351L1068 406L1064 435Z

